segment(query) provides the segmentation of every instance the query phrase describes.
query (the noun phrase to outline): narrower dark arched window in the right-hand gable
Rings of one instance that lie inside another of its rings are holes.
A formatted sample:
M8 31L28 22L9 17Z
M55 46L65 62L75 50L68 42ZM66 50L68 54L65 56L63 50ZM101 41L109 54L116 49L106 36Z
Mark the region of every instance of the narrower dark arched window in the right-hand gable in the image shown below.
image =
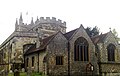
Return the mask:
M108 61L115 61L115 45L109 44L107 46Z

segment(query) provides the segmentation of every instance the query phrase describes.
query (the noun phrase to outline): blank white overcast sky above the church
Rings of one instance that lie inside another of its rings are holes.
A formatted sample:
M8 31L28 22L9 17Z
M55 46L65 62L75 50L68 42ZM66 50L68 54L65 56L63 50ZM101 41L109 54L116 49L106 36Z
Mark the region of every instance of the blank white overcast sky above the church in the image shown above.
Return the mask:
M0 43L14 31L21 12L25 23L56 17L67 22L67 31L83 24L102 33L115 28L120 36L120 0L0 0Z

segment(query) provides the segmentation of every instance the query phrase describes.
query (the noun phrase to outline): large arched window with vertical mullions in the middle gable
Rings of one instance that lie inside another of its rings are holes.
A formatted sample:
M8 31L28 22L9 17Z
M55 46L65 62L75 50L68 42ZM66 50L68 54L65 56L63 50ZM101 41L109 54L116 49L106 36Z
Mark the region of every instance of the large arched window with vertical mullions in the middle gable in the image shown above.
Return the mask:
M85 38L79 37L74 43L74 60L75 61L88 61L88 42Z

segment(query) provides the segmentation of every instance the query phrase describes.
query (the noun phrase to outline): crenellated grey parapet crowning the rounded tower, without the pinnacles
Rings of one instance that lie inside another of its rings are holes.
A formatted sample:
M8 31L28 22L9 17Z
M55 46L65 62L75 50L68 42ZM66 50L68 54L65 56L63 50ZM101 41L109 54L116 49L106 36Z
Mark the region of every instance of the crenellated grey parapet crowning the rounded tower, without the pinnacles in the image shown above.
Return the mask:
M60 19L56 19L55 17L40 17L38 20L35 21L35 24L37 23L56 23L58 25L66 26L66 22L62 21Z

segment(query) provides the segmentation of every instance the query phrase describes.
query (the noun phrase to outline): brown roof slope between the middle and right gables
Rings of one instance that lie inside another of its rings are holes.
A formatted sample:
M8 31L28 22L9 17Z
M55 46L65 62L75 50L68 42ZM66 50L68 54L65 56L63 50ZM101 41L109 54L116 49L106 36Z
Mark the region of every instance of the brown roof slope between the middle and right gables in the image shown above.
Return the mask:
M106 38L107 34L108 33L93 36L93 37L91 37L91 40L93 41L94 44L104 42L104 39Z

